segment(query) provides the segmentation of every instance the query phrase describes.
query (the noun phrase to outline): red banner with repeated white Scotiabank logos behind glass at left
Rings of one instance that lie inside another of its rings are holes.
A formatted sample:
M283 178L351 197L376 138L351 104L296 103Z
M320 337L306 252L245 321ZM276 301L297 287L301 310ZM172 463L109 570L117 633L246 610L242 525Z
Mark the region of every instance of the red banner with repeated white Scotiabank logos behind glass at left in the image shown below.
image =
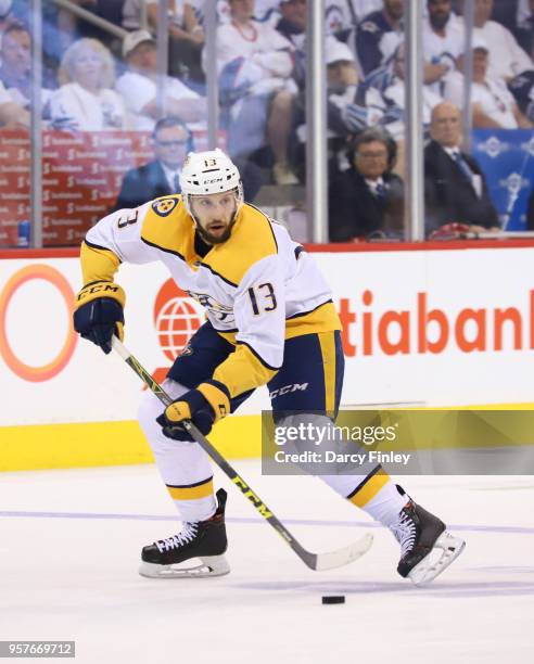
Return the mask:
M206 132L194 133L196 150ZM44 246L79 244L115 204L124 175L153 158L147 131L42 133ZM0 131L0 247L27 246L30 143L24 131Z

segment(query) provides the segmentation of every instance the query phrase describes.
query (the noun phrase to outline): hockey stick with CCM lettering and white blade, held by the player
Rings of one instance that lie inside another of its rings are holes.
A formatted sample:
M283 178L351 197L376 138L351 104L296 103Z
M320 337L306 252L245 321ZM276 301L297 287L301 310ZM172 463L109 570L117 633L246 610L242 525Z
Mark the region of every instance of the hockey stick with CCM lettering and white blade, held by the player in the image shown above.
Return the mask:
M150 373L142 367L139 361L131 355L126 346L116 337L112 339L112 347L120 355L124 361L132 369L137 375L143 381L149 390L160 399L164 406L169 406L173 403L170 396L163 390L163 387L154 381ZM275 531L282 537L298 558L310 569L316 571L333 570L334 567L342 567L348 563L357 560L360 556L366 553L371 544L372 535L367 534L358 541L339 549L336 551L330 551L328 553L312 553L307 551L288 531L288 528L275 516L269 510L265 502L252 490L249 484L234 471L234 469L228 463L228 461L215 449L209 440L201 434L196 426L186 420L183 426L191 434L191 437L202 447L202 449L212 457L215 463L220 470L233 482L233 484L241 490L243 496L247 498L252 505L256 508L259 514L269 523Z

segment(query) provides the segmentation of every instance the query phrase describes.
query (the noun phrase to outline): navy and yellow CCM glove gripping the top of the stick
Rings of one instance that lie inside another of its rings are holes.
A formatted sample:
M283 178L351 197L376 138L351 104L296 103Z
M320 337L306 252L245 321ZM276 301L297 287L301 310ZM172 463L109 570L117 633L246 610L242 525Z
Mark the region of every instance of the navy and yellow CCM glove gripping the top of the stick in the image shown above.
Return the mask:
M81 289L76 296L74 329L107 355L111 341L116 334L123 341L124 304L123 289L111 281L96 281Z

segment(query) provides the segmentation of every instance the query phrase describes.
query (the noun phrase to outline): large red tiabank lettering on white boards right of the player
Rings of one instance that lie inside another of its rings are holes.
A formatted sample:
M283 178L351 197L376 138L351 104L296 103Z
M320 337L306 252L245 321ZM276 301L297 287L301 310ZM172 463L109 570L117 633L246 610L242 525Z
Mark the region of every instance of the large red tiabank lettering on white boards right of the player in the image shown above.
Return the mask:
M534 349L534 291L524 306L466 307L450 314L432 306L419 292L409 309L378 314L378 296L364 291L361 298L341 298L343 347L347 357Z

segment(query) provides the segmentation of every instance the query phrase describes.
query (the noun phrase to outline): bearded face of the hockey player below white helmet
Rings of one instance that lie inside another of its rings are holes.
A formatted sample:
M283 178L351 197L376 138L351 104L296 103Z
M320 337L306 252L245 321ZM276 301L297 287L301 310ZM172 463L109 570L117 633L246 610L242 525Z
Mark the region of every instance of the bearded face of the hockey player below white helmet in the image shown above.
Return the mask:
M208 196L192 196L191 209L204 242L220 244L230 237L238 203L233 191Z

